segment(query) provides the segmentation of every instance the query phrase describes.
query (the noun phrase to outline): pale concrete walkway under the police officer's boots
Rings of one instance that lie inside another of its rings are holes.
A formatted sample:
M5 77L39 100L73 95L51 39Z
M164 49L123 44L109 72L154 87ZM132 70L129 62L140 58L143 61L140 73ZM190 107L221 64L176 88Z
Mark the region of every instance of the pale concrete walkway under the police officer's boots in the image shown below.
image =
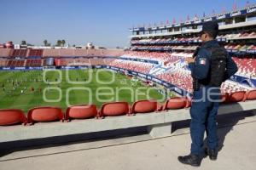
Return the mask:
M227 126L229 123L235 123L236 126ZM206 158L200 168L184 166L177 161L177 156L189 153L189 131L188 128L182 128L176 131L179 135L163 139L151 139L145 134L2 153L0 170L254 170L256 116L227 118L226 121L222 119L219 125L218 136L223 147L218 161Z

